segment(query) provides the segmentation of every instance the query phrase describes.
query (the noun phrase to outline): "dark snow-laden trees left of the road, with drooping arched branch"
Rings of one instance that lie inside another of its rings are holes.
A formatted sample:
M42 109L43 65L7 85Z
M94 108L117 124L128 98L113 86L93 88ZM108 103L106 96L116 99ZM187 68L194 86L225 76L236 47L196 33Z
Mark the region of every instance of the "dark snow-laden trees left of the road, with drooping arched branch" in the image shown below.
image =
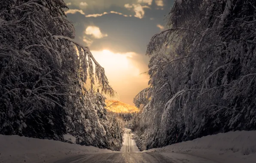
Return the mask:
M88 47L74 40L63 0L0 1L0 134L119 149L105 97L114 94ZM79 56L76 52L79 52ZM94 66L93 66L94 65ZM95 69L94 69L95 67Z

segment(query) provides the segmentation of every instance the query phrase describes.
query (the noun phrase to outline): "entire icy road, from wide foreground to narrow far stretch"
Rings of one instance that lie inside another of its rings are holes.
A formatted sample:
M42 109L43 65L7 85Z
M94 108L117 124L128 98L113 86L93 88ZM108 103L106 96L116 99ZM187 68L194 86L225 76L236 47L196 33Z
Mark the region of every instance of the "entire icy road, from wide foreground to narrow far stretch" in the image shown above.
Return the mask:
M216 163L188 154L140 152L132 135L130 129L125 129L124 142L119 153L79 155L54 163Z

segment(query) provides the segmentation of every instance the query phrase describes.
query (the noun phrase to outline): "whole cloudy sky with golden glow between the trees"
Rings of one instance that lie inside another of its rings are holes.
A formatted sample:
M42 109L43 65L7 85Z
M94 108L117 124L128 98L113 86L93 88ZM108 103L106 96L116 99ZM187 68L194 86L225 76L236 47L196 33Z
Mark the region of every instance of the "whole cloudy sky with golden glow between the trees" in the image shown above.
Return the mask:
M165 30L173 0L64 0L76 40L88 46L104 67L115 100L134 105L133 98L148 87L146 45Z

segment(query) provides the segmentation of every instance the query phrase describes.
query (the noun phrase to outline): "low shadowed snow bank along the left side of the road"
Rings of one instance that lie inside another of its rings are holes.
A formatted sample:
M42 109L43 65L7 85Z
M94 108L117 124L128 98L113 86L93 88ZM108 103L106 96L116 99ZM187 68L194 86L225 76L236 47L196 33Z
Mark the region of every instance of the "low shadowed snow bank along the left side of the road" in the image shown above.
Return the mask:
M0 163L51 163L77 154L113 152L48 139L0 135Z

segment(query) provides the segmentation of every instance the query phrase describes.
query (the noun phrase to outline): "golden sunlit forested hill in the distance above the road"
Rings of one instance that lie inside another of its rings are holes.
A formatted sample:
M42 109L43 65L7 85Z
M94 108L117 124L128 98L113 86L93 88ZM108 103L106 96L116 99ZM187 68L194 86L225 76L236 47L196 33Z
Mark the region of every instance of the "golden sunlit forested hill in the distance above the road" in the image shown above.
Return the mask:
M136 106L131 106L128 103L123 103L118 100L105 100L107 105L107 110L117 113L132 113L139 112L139 109Z

